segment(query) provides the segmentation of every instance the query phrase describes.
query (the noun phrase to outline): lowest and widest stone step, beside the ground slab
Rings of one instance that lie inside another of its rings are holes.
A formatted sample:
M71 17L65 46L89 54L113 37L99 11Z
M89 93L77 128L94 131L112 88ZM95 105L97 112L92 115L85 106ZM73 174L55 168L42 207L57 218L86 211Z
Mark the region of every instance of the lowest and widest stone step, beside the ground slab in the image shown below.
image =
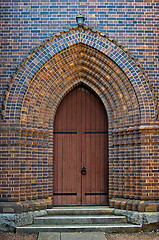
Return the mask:
M128 223L122 224L85 224L85 225L28 225L17 227L19 234L37 234L39 232L106 232L106 233L130 233L138 232L140 225Z

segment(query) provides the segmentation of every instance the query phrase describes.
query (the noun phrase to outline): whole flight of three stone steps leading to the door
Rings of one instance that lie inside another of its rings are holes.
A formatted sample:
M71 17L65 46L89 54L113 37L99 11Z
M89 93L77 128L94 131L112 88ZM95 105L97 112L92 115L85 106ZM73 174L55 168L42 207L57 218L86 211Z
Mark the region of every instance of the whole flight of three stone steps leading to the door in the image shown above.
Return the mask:
M113 208L54 207L46 216L35 217L34 224L17 227L18 233L39 232L137 232L139 225L128 224L125 216L113 215Z

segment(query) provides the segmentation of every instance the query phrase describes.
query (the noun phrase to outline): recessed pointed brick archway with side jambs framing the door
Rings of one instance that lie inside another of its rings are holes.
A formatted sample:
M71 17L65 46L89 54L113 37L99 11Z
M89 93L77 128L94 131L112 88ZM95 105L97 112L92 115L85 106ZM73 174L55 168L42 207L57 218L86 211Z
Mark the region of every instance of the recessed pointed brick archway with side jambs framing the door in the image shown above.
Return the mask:
M8 136L12 131L8 153L20 175L14 193L5 196L23 201L22 208L29 200L36 207L52 204L54 117L64 96L81 83L99 96L108 114L110 206L140 210L141 200L157 199L142 168L145 134L150 137L156 130L152 93L125 50L83 28L46 41L19 67L6 92L4 131ZM14 168L11 174L16 174ZM145 210L147 203L142 206Z

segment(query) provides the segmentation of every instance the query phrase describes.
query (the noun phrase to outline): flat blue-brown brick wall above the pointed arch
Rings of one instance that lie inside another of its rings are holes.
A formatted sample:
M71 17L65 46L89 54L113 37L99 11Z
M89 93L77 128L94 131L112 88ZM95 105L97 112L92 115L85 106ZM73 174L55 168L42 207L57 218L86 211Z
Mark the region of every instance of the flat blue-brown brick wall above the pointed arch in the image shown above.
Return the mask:
M119 41L139 59L158 98L157 0L2 0L1 6L1 99L28 52L53 34L75 26L79 12L88 26Z

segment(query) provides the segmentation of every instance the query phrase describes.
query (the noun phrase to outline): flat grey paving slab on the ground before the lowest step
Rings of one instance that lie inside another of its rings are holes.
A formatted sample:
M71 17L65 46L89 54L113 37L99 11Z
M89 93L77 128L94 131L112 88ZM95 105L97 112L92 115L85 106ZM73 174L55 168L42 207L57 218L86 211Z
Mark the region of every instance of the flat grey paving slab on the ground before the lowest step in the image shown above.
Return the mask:
M38 240L106 240L102 232L85 233L39 233Z

